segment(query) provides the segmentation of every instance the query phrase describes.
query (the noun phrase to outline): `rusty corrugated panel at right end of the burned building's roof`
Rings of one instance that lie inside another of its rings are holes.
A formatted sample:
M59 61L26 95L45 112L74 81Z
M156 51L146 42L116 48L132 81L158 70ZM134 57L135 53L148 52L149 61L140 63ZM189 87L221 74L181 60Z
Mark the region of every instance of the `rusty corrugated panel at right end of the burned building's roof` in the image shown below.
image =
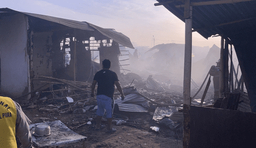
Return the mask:
M95 28L96 30L98 30L104 36L109 37L110 39L113 39L114 41L116 41L117 43L119 43L121 45L124 45L125 47L134 49L132 42L130 41L130 38L125 36L124 34L122 34L120 32L116 32L113 29L105 29L105 28L96 26L94 24L90 24L90 23L88 23L88 24L90 26L92 26L93 28Z

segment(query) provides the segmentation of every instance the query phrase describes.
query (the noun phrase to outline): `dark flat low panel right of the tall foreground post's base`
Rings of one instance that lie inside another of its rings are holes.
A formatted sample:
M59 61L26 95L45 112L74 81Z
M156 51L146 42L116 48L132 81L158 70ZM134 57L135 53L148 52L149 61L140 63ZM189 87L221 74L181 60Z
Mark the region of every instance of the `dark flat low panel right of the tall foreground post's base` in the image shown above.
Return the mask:
M190 108L190 148L248 148L256 140L256 113Z

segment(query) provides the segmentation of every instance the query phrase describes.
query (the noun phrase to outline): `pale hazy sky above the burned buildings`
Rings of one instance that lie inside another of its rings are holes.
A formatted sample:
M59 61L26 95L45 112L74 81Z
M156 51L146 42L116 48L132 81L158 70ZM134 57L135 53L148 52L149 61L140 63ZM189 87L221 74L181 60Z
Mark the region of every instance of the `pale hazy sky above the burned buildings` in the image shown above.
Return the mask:
M114 28L128 36L134 47L162 43L185 43L185 23L156 0L4 0L1 8L86 21ZM192 33L192 45L220 47L220 37L208 40Z

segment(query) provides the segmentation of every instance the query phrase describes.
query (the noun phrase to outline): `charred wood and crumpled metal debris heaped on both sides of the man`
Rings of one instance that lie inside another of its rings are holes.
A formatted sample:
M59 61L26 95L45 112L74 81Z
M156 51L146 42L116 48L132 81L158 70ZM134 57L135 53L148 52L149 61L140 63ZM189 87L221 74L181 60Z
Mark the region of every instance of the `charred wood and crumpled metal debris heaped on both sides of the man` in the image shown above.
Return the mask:
M37 76L35 79L42 79L42 81L40 81L42 87L19 97L22 98L31 94L32 97L29 102L27 101L22 104L22 107L26 107L26 109L39 109L40 112L57 112L58 114L74 112L84 113L88 110L96 109L96 97L90 97L91 83L69 81L45 76ZM148 112L153 115L154 122L160 127L170 128L174 132L179 131L179 136L182 136L182 87L175 85L176 87L179 87L179 91L177 91L177 89L176 91L171 90L170 81L160 83L152 79L152 75L150 75L148 79L142 79L136 74L132 74L132 76L121 76L120 82L124 82L122 88L126 99L121 101L120 93L116 89L114 92L116 103L115 110L117 106L120 111ZM129 106L129 104L132 105ZM142 119L131 120L127 116L116 114L115 111L113 119L116 121L117 125L144 124ZM103 120L106 120L106 118L103 117ZM159 127L152 126L150 127L150 130L159 132Z

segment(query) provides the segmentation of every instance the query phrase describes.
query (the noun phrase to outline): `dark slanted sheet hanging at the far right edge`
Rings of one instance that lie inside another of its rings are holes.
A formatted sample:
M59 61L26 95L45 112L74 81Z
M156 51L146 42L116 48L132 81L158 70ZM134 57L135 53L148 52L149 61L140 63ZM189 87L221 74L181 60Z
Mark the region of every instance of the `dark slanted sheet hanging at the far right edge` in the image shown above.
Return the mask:
M234 36L231 38L234 43L236 56L239 61L244 84L246 86L252 112L256 112L256 34Z

